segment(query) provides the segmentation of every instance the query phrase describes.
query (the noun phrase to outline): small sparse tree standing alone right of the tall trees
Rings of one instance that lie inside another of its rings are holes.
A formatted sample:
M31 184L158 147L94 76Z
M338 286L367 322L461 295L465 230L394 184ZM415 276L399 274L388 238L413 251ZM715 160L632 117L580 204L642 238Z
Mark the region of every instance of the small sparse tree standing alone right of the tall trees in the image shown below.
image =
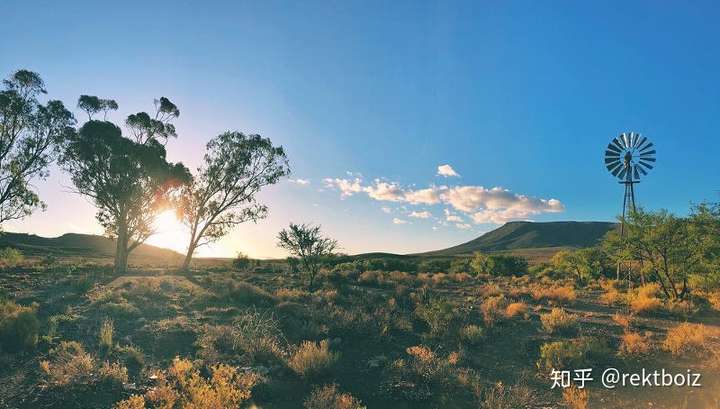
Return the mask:
M290 223L290 227L278 234L278 246L300 259L309 277L308 287L312 289L323 258L333 254L337 241L323 237L320 226Z

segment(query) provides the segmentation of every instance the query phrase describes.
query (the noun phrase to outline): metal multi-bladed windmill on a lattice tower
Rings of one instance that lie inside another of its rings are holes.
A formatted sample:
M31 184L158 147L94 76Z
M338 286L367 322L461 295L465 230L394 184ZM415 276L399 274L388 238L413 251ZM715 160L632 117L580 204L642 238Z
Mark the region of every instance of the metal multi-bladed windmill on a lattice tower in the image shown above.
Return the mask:
M624 132L614 138L605 150L605 167L619 183L625 185L620 239L625 237L625 215L635 211L635 184L647 176L655 166L655 147L650 140L636 132ZM620 279L620 264L617 278Z

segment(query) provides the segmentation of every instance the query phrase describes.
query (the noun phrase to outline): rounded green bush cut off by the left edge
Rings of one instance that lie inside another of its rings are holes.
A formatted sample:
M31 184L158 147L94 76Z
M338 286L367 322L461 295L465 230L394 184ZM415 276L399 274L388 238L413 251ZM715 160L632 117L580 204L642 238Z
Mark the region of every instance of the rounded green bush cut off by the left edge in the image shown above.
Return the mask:
M3 351L18 352L34 348L39 331L36 306L23 307L13 301L0 302L0 348Z

